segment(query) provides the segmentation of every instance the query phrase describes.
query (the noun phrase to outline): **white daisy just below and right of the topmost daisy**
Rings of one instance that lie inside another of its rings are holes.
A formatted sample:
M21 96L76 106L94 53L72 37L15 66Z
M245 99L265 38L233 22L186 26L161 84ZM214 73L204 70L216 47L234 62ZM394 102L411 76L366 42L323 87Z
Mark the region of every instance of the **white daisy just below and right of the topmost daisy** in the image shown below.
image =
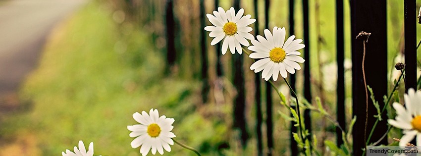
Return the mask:
M254 51L250 54L250 58L262 58L250 66L251 70L255 73L262 72L262 78L265 81L273 77L273 80L278 79L280 73L283 78L287 77L287 71L291 74L295 73L295 70L300 70L301 67L297 63L303 63L304 59L300 56L298 50L306 47L301 39L294 40L295 36L289 37L285 43L285 28L274 27L273 35L268 29L264 30L264 36L258 35L256 40L251 40L253 46L248 49Z

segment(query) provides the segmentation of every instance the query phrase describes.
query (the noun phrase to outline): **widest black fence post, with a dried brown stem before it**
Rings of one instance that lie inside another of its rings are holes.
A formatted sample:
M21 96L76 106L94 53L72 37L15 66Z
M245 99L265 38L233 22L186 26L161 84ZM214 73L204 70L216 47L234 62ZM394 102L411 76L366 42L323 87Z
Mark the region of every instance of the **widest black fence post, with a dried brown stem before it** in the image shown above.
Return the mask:
M371 33L366 44L365 73L367 85L374 91L375 100L380 108L384 106L383 96L387 94L387 29L385 0L351 0L351 34L352 34L352 95L353 115L357 121L353 129L353 155L361 156L365 148L364 128L366 123L366 92L363 81L362 60L363 41L355 37L361 32ZM416 20L416 18L414 18ZM370 96L370 95L368 95ZM368 128L371 130L377 113L371 100L368 100ZM386 113L382 118L387 118ZM370 143L378 141L387 131L387 121L378 122ZM362 129L363 128L363 129ZM367 134L368 136L368 134ZM387 138L379 145L387 144Z

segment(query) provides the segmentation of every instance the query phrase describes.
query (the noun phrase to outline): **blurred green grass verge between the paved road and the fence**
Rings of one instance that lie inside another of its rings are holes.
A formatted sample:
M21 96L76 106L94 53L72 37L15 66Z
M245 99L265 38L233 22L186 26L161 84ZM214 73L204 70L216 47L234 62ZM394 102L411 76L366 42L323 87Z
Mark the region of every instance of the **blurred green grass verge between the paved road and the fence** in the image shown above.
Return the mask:
M227 126L195 111L200 83L165 77L164 57L148 35L114 23L103 6L89 3L53 32L38 69L21 88L27 110L2 121L0 136L35 136L40 156L60 155L79 140L94 142L95 155L138 156L126 127L136 124L134 112L158 108L175 119L175 139L216 155L229 137ZM165 155L194 153L175 145Z

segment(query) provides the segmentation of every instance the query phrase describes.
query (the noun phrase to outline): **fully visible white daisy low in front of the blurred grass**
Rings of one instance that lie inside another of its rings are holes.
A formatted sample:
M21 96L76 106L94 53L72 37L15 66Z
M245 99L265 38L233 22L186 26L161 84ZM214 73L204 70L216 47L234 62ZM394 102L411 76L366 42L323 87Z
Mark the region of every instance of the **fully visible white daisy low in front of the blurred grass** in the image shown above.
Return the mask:
M133 113L133 118L140 124L129 125L127 129L132 131L130 137L135 138L130 144L132 148L140 148L142 156L146 156L151 150L151 153L155 155L158 151L159 154L163 155L165 151L171 152L169 145L174 145L174 133L171 132L173 118L167 118L165 115L159 117L157 109L151 109L149 114L146 111Z

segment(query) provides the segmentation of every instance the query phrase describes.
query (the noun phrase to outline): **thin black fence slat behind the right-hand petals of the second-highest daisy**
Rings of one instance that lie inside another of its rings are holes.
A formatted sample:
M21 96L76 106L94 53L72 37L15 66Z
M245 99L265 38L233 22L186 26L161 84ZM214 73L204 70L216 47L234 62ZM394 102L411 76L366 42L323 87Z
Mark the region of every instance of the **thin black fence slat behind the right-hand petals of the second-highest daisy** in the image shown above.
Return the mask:
M295 8L295 0L289 0L289 36L295 34L295 22L294 22L294 8ZM295 91L295 83L296 83L296 77L295 74L290 74L290 85L291 88ZM295 106L292 106L292 108L295 110ZM292 113L290 114L291 117L294 117ZM289 139L290 139L290 150L291 150L291 156L298 156L298 148L297 148L297 142L294 140L294 136L292 133L297 133L297 127L294 126L295 122L291 121L290 123L290 129L291 132L289 133Z

